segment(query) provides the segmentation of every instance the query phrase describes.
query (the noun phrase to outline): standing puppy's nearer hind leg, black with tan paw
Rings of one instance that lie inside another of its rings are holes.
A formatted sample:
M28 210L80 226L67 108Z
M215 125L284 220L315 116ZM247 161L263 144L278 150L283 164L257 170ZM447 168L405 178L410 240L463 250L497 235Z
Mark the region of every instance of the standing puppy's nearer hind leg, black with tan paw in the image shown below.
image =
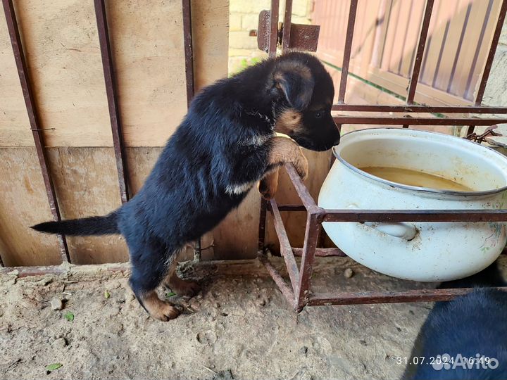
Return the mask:
M173 262L174 251L168 251L163 244L150 243L129 244L132 262L130 287L137 300L150 317L168 321L180 315L180 310L170 303L158 298L156 288L168 272L168 265Z

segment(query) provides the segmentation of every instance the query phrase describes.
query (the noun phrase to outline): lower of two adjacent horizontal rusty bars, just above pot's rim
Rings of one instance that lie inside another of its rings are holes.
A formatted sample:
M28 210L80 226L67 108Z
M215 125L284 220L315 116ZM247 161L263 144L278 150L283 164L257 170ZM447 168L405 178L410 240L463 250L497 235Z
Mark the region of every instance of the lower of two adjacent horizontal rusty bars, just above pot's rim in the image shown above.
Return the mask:
M337 124L371 124L371 125L495 125L507 122L507 118L404 118L394 117L370 117L339 115L333 117Z

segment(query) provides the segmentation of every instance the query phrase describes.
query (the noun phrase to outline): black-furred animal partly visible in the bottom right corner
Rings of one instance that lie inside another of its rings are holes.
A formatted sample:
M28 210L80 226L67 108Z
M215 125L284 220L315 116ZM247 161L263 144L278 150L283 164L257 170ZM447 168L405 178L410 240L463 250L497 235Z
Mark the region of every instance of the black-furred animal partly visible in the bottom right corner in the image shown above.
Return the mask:
M479 274L445 282L440 288L472 286L506 286L506 282L494 262ZM484 369L477 359L471 362L472 368L464 369L460 360L454 369L452 363L448 363L448 369L434 369L428 360L445 353L454 359L458 354L467 358L484 355L498 360L498 367L489 368L484 363ZM408 365L403 379L507 379L507 293L479 287L449 302L435 303L408 360L413 357L425 357L426 363Z

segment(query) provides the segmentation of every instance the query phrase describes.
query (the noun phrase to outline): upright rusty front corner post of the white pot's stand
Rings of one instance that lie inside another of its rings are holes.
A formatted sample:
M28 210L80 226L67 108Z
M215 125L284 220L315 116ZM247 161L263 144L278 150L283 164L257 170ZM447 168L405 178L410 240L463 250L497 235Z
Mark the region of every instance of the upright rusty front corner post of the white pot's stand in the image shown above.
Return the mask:
M299 268L299 284L296 291L296 307L301 310L308 301L308 293L311 286L313 262L315 260L315 248L322 228L322 215L308 213L306 217L305 239L303 243L303 257Z

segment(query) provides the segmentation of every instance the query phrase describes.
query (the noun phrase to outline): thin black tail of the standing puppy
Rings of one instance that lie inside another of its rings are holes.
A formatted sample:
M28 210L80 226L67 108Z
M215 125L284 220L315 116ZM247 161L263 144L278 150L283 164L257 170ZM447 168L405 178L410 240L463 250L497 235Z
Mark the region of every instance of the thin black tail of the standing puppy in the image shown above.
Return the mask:
M31 227L35 231L48 234L70 236L119 234L118 214L113 212L101 217L84 217L82 219L62 220L61 222L44 222Z

